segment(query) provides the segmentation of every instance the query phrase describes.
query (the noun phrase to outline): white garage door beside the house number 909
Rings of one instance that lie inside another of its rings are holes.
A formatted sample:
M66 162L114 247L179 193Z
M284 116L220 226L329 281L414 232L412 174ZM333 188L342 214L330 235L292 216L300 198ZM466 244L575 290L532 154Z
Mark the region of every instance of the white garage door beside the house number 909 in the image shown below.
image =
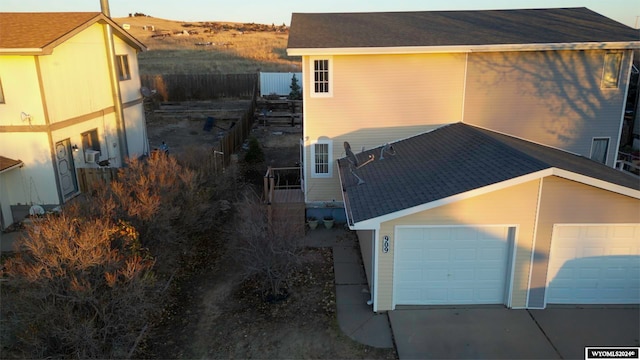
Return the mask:
M398 227L397 305L503 304L509 228Z

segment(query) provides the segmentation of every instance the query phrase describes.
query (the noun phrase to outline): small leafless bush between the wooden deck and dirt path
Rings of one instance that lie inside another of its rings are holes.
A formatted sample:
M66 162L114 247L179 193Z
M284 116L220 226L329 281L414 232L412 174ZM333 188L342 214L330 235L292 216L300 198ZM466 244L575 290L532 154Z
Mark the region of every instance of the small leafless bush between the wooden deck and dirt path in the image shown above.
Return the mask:
M286 221L270 224L266 206L254 194L246 196L237 208L235 254L245 278L255 278L268 297L285 295L287 280L300 264L300 239Z

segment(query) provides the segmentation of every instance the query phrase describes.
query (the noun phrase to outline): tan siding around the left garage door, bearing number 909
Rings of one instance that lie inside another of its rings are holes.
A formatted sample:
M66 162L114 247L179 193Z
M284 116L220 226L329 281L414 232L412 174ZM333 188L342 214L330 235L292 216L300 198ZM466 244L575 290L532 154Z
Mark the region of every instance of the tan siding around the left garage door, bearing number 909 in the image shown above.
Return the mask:
M390 249L386 254L379 249L380 257L376 274L378 310L392 310L393 307L393 242L397 225L516 226L512 306L524 307L529 282L538 193L539 180L535 180L382 223L378 237L380 239L385 235L389 236ZM380 244L381 241L378 241L378 246L381 246Z

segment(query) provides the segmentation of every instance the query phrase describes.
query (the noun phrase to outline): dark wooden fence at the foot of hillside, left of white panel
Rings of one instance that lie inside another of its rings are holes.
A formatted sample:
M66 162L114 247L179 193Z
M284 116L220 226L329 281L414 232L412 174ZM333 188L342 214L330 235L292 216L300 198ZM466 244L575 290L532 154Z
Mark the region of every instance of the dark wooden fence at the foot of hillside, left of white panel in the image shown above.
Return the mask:
M163 101L251 98L258 74L140 75L143 87L156 90Z

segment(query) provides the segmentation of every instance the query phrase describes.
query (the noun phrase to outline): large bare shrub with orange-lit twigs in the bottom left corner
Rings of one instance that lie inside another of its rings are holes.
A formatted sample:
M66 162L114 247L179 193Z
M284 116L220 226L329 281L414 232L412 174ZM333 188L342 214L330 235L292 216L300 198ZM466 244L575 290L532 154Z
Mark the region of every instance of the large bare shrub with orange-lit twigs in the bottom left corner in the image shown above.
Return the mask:
M23 356L126 357L153 309L154 260L137 231L78 209L40 220L1 271L19 299L3 303L2 331Z

